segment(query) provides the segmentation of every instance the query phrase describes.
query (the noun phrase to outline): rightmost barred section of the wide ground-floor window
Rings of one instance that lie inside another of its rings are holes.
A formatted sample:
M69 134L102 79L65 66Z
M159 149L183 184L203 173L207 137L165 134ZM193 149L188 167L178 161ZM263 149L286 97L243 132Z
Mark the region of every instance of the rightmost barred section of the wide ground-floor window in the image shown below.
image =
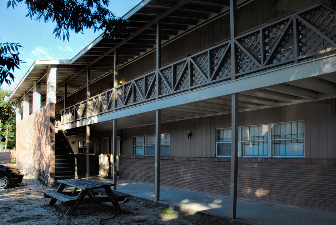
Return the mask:
M271 124L272 156L304 156L303 121Z

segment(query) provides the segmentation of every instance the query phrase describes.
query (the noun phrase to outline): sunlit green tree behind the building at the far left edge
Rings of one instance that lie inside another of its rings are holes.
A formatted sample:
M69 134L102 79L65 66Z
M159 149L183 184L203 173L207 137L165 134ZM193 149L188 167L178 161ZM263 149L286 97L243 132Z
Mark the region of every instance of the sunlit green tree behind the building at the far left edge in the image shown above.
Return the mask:
M5 91L0 89L0 141L2 149L5 147L5 140L7 136L7 149L15 145L15 102L5 102L5 96L9 96L12 91Z

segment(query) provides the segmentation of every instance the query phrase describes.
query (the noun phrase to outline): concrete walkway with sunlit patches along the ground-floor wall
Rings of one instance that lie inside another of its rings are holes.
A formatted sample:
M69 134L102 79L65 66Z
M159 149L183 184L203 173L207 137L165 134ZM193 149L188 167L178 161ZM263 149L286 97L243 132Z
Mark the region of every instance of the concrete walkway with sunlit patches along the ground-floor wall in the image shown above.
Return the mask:
M105 182L111 179L92 177ZM118 192L131 195L143 201L150 201L163 207L172 207L181 211L199 214L208 218L232 224L248 225L335 225L336 214L237 200L237 219L229 219L229 197L204 194L195 191L160 187L160 200L154 199L154 184L145 184L128 180L117 180Z

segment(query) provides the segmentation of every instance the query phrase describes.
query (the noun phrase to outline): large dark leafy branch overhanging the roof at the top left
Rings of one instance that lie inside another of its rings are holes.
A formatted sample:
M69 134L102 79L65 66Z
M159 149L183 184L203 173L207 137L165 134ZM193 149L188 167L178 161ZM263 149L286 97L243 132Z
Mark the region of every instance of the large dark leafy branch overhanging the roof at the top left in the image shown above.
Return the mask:
M27 5L26 16L56 23L55 38L69 41L69 30L83 33L86 29L102 30L106 37L116 38L126 33L127 21L115 16L107 7L110 0L9 0L7 8L17 3Z

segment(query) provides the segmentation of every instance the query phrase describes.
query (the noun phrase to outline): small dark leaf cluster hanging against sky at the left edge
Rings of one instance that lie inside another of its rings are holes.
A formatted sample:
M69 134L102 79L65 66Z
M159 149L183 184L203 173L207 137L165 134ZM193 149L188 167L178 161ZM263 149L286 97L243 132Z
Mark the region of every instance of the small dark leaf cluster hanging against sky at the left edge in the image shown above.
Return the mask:
M14 81L12 72L14 72L15 67L19 69L20 62L24 62L18 56L18 48L21 47L20 43L0 42L0 86L4 81L8 85L11 84L10 79Z

